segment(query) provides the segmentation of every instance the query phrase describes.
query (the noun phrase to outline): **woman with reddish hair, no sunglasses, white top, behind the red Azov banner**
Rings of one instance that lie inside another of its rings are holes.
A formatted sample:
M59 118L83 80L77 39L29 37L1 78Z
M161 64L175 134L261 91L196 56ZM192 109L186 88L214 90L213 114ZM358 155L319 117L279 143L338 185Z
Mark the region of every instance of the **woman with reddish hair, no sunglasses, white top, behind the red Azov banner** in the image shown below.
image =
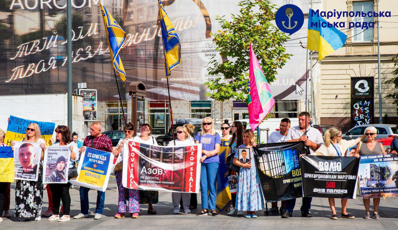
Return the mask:
M133 141L140 142L142 144L150 144L152 146L158 146L156 138L150 136L152 132L152 126L149 124L142 124L140 126L140 136L133 138ZM148 214L156 214L156 210L153 209L152 204L158 203L159 192L150 190L139 190L140 191L140 204L148 204Z

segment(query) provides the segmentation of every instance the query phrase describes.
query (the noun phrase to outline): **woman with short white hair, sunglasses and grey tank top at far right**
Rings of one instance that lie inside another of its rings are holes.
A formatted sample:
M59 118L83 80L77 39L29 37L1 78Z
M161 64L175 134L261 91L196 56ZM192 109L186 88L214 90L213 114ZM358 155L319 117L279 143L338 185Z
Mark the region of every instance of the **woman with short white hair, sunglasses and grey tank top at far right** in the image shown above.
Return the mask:
M366 155L386 155L386 152L384 151L384 147L381 142L377 142L375 140L377 136L377 129L373 126L369 126L365 129L365 135L366 135L366 141L365 142L359 142L357 145L357 148L355 149L354 157L359 157L359 156L366 156ZM363 198L363 205L365 206L365 216L363 217L364 219L370 219L370 211L369 211L369 205L370 205L370 198ZM377 209L378 205L380 204L380 198L373 198L373 218L375 219L380 219L380 216L378 215Z

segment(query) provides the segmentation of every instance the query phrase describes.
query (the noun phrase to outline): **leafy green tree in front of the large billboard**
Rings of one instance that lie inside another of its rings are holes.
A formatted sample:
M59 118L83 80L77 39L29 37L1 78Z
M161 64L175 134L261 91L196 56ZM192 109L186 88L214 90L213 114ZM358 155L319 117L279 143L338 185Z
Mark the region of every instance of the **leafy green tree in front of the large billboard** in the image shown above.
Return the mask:
M277 69L291 56L283 47L289 37L273 25L275 4L269 0L242 0L238 6L239 14L232 14L231 21L217 16L222 29L211 34L222 62L216 57L209 61L207 70L217 77L205 85L211 90L207 95L219 101L246 101L250 43L268 82L275 79Z

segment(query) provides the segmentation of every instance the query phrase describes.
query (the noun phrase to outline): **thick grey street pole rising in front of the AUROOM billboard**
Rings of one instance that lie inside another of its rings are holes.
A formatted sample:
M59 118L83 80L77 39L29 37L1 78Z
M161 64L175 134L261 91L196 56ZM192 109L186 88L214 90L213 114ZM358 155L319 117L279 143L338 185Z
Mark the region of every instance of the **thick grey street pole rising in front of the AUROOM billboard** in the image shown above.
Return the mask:
M72 131L72 1L66 0L66 44L68 53L68 128Z

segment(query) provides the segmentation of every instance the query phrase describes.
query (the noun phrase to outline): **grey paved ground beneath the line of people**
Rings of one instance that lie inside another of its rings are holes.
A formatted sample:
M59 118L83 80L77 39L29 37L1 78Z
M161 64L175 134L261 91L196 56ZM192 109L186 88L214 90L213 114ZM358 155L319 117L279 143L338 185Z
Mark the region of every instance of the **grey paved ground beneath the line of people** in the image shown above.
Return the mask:
M14 215L15 207L15 183L11 184L11 205L10 214ZM80 213L80 197L78 186L70 190L72 199L71 216ZM293 217L282 219L279 215L265 216L263 212L258 212L259 216L256 219L246 219L244 217L230 217L226 215L226 211L219 213L219 217L197 217L195 214L201 209L194 209L193 214L173 214L171 194L168 192L160 192L159 203L154 205L157 215L147 214L148 205L141 205L141 212L138 219L127 218L116 219L113 216L117 213L117 192L116 184L110 183L109 188L105 194L105 209L103 217L100 220L94 220L94 211L96 205L96 191L90 190L90 215L88 218L70 220L68 222L49 222L47 217L42 217L40 221L29 220L26 222L18 222L18 218L4 218L0 223L0 229L398 229L398 197L386 198L380 201L379 215L380 220L365 220L363 215L365 209L363 207L362 198L355 200L350 199L348 203L348 211L354 215L355 219L331 220L331 215L328 199L313 198L311 213L312 218L300 217L301 199L297 199L297 204ZM339 200L336 199L338 210L341 211ZM200 202L200 195L198 194L198 202ZM48 199L47 192L44 191L43 211L47 210ZM200 205L198 205L200 207ZM371 208L372 208L371 203Z

